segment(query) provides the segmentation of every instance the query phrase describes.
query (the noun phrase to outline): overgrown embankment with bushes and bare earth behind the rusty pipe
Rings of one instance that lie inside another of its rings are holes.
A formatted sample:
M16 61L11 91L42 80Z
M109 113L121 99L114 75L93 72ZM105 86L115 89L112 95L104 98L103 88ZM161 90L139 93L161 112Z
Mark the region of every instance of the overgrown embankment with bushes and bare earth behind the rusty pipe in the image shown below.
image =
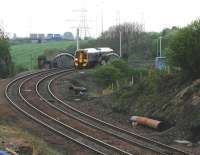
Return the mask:
M184 81L177 72L136 69L121 61L97 67L92 76L97 85L113 90L113 112L163 120L175 127L171 139L200 139L200 80Z

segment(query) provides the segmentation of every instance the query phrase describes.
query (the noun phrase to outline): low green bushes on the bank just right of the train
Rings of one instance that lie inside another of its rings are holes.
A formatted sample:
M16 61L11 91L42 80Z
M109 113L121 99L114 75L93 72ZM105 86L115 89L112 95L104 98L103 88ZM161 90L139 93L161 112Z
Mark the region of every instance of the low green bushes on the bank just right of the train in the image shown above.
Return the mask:
M133 79L134 84L145 81L149 91L152 92L157 89L159 79L164 74L164 71L148 70L148 68L134 69L123 60L116 60L110 64L99 66L94 72L97 82L103 87L108 87L112 83L116 84L117 80L124 87L129 85Z

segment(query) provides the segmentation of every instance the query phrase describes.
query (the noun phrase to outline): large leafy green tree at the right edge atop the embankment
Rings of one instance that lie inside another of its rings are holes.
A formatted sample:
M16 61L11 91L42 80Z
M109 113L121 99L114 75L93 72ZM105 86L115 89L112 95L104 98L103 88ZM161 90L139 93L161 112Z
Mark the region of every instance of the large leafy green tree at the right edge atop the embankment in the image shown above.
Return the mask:
M170 44L168 59L187 77L200 77L200 19L176 33Z

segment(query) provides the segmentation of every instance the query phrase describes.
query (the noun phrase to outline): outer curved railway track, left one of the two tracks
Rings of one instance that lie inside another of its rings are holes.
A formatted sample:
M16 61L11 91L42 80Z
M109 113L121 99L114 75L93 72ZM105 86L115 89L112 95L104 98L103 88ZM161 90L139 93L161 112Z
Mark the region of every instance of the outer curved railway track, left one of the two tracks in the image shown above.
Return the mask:
M50 71L43 71L43 72L28 74L28 75L19 77L17 79L14 79L13 81L11 81L5 89L5 96L8 99L8 101L10 102L10 104L12 106L14 106L18 111L23 113L25 116L27 116L31 120L37 122L38 124L42 125L43 127L47 128L48 130L52 131L53 133L58 134L61 137L69 139L72 142L74 142L86 149L91 150L95 154L103 154L104 155L105 153L98 151L97 149L90 147L87 144L84 144L83 142L81 142L78 139L73 138L68 133L67 134L64 133L60 128L58 128L58 126L55 126L55 124L53 124L52 122L49 122L49 120L45 120L46 119L46 118L44 118L45 115L43 116L43 114L41 114L38 110L36 110L36 111L38 111L38 113L35 113L35 108L33 110L32 107L30 106L31 104L28 103L27 101L24 101L21 98L22 95L20 95L21 94L20 86L22 85L22 83L24 81L26 81L27 78L29 78L29 79L34 78L35 76L41 75L45 72L49 73Z

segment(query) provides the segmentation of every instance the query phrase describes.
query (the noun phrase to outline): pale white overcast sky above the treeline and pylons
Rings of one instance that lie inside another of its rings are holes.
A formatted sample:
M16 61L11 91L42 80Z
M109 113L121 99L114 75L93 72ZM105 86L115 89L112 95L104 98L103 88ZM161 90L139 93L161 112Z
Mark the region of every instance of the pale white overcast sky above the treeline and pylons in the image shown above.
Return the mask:
M138 22L145 31L158 32L186 26L200 17L199 0L0 0L0 6L0 25L21 37L29 33L75 34L84 23L80 21L87 21L87 33L92 37L124 22Z

